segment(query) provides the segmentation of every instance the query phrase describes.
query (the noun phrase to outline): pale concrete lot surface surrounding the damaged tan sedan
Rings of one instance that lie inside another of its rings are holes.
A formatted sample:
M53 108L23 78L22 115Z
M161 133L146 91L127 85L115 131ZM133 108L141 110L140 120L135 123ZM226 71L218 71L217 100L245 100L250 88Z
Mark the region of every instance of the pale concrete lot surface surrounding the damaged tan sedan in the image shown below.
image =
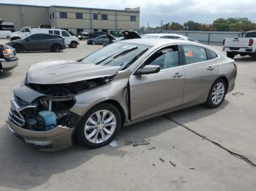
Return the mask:
M195 106L123 128L118 147L39 152L13 136L5 125L10 88L29 66L98 48L80 42L59 53L19 54L18 67L0 74L0 190L256 189L256 61L249 57L236 59L236 87L219 109ZM150 144L132 147L141 140Z

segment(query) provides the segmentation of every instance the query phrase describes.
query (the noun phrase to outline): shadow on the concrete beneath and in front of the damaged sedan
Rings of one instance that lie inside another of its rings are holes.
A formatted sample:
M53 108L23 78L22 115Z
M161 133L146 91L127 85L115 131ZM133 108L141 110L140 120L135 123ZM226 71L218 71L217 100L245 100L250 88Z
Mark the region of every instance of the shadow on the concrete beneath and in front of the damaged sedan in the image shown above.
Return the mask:
M173 114L190 113L191 117L188 120L194 121L219 112L227 104L228 102L225 101L218 109L194 106ZM59 152L40 152L28 147L23 141L13 136L6 125L2 125L0 128L0 186L22 190L38 187L48 182L54 174L78 168L89 160L93 160L97 155L107 157L126 155L127 151L124 147L132 147L134 141L149 141L151 137L173 128L181 128L181 126L167 120L167 117L161 116L121 129L116 139L118 147L107 145L99 149L86 149L75 145ZM151 144L153 145L154 142ZM137 147L132 148L137 149Z

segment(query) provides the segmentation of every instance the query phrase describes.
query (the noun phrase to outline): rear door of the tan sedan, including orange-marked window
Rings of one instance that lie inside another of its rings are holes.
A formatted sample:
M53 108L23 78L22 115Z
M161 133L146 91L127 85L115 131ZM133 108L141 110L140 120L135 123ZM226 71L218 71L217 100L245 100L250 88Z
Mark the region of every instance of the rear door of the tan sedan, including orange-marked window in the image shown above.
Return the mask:
M183 105L206 101L211 85L217 78L219 55L213 50L184 44L185 86Z

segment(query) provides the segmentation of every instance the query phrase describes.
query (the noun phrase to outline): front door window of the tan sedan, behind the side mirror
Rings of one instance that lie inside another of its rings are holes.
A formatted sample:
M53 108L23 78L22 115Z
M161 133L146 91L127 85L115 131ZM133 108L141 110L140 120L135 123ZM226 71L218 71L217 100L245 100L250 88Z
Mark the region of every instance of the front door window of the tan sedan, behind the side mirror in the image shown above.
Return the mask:
M170 69L178 66L178 46L165 47L151 55L146 61L145 65L157 65L161 69Z

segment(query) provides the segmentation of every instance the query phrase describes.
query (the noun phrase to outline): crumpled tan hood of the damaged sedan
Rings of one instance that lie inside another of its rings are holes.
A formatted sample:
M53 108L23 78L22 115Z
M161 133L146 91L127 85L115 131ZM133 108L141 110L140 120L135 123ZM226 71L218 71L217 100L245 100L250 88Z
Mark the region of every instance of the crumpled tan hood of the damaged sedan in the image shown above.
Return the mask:
M34 64L26 74L32 84L64 84L116 74L119 66L99 66L78 61L50 61Z

